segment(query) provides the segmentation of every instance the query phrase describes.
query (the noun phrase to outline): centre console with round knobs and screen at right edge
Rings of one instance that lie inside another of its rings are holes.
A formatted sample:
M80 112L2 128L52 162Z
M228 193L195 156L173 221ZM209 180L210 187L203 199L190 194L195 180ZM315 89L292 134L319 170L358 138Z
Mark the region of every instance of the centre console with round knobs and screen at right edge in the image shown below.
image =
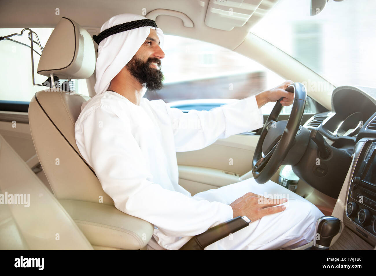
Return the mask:
M363 140L363 139L362 139ZM363 142L364 141L364 142ZM376 245L376 139L363 140L347 191L344 224Z

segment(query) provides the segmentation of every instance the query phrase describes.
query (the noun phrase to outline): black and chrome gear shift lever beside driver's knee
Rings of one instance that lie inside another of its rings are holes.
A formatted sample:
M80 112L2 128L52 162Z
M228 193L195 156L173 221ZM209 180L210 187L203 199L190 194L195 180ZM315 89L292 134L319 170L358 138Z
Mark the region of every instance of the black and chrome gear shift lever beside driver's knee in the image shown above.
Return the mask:
M341 232L340 219L331 216L318 218L311 250L329 250L333 237L339 232Z

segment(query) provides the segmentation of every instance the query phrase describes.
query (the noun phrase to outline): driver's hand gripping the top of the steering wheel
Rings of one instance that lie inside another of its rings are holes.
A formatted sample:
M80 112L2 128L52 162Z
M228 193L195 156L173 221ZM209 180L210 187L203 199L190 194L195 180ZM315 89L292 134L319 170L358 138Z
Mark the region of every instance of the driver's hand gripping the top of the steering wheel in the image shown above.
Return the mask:
M287 80L284 81L284 83L274 87L273 89L265 90L260 94L256 95L258 107L260 108L268 102L278 101L282 97L283 99L280 102L282 104L282 107L290 106L294 100L294 93L290 93L285 90L290 84L293 84L293 81Z

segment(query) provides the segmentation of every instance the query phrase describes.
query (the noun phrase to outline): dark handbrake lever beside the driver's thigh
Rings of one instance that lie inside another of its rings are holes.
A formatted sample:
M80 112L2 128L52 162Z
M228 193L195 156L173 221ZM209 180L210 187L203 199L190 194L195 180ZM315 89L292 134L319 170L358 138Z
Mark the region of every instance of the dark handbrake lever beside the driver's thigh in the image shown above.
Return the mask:
M186 244L180 247L179 250L204 250L204 248L216 241L219 241L231 233L239 231L248 226L249 223L242 219L242 217L235 217L209 228L202 234L192 237Z

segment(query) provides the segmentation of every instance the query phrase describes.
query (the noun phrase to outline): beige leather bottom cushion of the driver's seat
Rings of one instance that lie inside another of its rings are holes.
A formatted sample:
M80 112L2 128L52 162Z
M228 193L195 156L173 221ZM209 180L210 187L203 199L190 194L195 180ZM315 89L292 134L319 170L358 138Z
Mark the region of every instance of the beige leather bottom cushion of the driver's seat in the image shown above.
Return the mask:
M123 213L113 205L68 199L59 202L92 245L140 249L153 235L151 223Z

